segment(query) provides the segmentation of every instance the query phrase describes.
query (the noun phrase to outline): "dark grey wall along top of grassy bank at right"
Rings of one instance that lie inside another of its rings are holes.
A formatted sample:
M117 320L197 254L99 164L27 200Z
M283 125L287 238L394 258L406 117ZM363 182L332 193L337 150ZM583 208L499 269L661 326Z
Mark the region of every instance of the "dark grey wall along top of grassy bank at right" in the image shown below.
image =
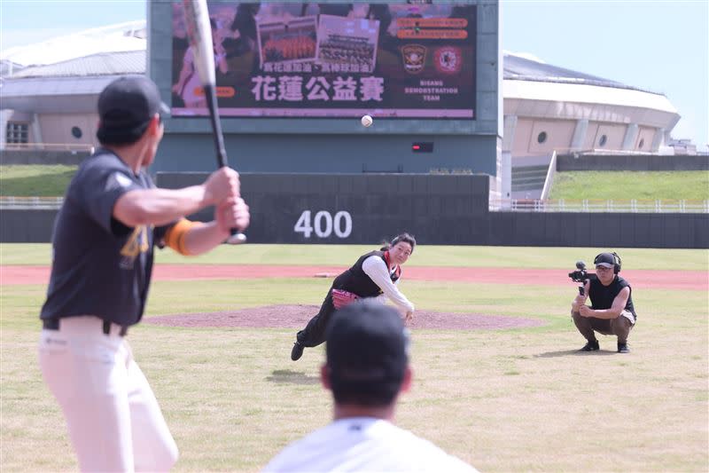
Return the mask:
M709 156L573 154L557 156L557 170L708 170Z

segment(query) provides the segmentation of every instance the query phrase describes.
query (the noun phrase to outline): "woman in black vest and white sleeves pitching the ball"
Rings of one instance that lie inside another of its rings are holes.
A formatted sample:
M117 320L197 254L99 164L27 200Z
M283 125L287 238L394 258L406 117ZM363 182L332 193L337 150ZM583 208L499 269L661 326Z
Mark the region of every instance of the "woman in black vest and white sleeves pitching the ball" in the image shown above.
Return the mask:
M325 328L334 311L359 298L378 297L384 303L392 300L409 322L414 317L414 304L396 285L401 280L401 264L409 260L416 248L416 240L409 233L401 233L386 247L362 255L346 272L332 282L323 305L308 326L296 335L291 359L303 356L305 347L315 347L325 341Z

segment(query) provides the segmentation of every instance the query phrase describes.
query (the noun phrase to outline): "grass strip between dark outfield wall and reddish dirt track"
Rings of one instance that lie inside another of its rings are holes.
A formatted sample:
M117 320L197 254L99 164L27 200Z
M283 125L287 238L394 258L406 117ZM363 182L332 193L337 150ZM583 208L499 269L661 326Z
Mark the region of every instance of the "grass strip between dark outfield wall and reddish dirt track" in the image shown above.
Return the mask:
M222 245L204 256L185 257L167 248L156 251L157 264L300 264L349 267L371 245ZM708 249L534 248L418 245L404 266L484 268L558 268L571 272L578 260L588 267L598 253L612 249L624 267L645 270L708 271ZM0 243L0 264L51 264L49 243Z

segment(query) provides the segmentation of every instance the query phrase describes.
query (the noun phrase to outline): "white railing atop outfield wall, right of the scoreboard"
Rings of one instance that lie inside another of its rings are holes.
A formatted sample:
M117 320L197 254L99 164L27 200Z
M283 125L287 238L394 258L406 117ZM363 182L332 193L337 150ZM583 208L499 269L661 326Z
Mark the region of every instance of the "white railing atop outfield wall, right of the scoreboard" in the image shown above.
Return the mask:
M491 200L489 208L501 212L623 212L623 213L709 213L709 200L705 201L579 201L541 199Z

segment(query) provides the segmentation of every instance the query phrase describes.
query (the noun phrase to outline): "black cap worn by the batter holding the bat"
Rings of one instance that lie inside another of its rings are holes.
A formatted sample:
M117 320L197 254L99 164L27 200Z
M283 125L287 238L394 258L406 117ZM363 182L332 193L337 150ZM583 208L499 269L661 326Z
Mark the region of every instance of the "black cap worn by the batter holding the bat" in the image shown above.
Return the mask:
M144 75L127 75L109 83L98 96L96 136L106 144L137 141L155 114L169 113L158 87Z

